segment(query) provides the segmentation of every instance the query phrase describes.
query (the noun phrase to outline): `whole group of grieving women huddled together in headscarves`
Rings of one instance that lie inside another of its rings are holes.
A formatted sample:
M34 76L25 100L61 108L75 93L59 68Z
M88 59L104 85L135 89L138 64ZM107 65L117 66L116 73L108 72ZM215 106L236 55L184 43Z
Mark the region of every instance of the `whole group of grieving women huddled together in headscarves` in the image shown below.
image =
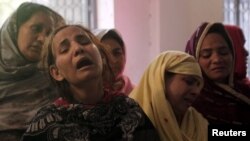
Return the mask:
M237 26L201 23L133 84L117 29L69 25L25 2L0 30L0 138L207 141L208 125L249 125L244 43Z

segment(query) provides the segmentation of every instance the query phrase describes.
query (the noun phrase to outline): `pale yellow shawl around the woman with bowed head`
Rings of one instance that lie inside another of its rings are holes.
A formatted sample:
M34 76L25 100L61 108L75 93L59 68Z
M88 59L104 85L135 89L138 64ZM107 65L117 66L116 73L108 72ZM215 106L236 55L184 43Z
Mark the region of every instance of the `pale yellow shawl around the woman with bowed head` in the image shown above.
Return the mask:
M165 71L198 76L203 84L200 67L192 56L179 51L166 51L149 65L129 96L143 108L162 141L206 141L208 122L194 108L187 110L181 126L178 125L165 97Z

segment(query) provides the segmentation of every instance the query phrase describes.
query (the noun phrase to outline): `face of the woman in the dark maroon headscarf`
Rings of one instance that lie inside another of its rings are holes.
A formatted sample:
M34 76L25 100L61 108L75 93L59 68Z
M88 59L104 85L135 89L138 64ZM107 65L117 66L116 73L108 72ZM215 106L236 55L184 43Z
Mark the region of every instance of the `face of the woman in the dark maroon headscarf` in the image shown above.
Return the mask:
M214 81L225 83L233 69L233 55L225 39L217 33L208 34L199 53L199 64Z

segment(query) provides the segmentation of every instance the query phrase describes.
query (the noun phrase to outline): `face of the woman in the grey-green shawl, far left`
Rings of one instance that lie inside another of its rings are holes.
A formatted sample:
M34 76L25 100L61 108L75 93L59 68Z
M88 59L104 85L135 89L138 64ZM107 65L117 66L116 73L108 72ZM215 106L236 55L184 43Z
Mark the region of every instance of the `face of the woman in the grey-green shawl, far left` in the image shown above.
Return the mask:
M31 62L40 60L42 46L45 38L52 28L52 20L46 13L35 13L28 21L23 23L18 32L17 44L23 56Z

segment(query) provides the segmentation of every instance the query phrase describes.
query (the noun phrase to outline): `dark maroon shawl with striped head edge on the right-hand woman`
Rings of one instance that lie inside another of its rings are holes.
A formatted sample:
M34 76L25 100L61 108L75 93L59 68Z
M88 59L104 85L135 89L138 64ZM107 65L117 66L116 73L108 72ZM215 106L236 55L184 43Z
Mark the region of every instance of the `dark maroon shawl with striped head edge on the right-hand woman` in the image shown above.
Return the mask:
M237 54L235 52L235 43L232 40L222 23L202 23L186 45L186 52L193 55L196 60L199 60L199 53L201 44L207 34L217 33L221 35L228 44L233 55L233 68L234 65L238 66ZM242 43L238 44L239 46ZM245 55L242 57L246 57ZM238 58L239 59L239 58ZM236 64L234 64L236 63ZM245 70L246 71L246 70ZM238 72L238 71L237 71ZM236 72L236 73L237 73ZM240 74L244 76L243 74ZM203 71L204 88L201 94L194 102L193 106L201 112L209 121L210 124L250 124L250 85L238 81L242 77L236 78L234 69L230 70L227 82L225 84L211 80ZM238 79L238 80L237 80Z

